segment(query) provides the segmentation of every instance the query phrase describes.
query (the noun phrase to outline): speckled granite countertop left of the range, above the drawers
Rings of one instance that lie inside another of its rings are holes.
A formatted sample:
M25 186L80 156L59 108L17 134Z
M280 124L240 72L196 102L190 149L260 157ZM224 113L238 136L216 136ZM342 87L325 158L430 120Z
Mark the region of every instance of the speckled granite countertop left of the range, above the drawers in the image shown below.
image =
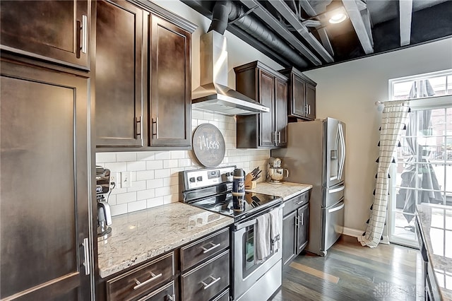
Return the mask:
M112 236L97 243L100 277L181 247L233 222L233 218L185 203L114 216Z

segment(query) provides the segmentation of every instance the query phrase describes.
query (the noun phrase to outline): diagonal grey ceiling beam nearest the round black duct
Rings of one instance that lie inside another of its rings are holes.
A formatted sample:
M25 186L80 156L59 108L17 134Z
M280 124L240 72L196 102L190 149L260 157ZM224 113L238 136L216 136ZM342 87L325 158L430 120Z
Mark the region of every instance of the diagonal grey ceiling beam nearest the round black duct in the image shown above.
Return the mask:
M315 66L320 66L322 64L321 60L316 57L311 50L303 45L303 43L300 42L295 35L292 35L292 33L290 33L290 31L287 30L287 28L285 28L285 26L283 26L277 19L275 19L271 13L269 13L257 0L240 0L240 2L242 2L242 4L249 9L256 7L256 9L254 9L254 14L261 18L261 20L263 20L263 22L265 22L270 28L275 30L276 33L284 37L285 40L292 45L292 47L297 49L304 55L304 57L309 59L312 64Z

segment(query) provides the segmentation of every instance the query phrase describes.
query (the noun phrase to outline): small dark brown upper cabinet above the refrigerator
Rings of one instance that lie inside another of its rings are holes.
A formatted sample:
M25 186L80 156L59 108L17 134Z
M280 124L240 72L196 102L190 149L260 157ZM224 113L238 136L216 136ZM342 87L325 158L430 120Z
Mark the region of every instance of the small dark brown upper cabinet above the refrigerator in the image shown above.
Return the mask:
M316 83L295 68L280 70L287 78L287 115L305 120L316 119Z

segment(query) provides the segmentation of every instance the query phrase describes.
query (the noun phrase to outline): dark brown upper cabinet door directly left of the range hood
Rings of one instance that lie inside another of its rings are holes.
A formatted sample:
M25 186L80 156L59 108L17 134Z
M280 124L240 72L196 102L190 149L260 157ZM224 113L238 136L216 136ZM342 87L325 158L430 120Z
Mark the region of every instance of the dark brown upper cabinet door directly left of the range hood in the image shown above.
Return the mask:
M150 16L150 146L191 146L191 33Z

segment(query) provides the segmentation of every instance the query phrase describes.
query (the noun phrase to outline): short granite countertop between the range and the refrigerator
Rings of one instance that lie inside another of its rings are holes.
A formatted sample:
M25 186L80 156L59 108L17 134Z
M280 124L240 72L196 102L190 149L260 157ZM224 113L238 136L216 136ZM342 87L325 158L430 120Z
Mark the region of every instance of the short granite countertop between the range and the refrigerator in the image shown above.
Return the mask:
M258 182L255 189L246 189L246 191L256 192L258 194L272 194L273 196L281 196L283 201L302 194L312 188L310 184L299 184L291 182L283 182L283 184L270 184L268 182Z

